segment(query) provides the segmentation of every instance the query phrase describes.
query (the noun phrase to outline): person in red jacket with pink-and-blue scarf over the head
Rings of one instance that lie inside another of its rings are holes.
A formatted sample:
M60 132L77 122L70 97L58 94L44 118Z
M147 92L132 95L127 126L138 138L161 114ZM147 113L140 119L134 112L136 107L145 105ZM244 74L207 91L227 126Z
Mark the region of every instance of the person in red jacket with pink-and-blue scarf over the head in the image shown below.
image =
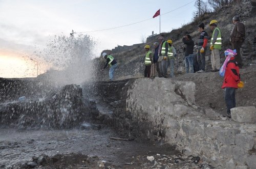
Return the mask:
M230 55L231 54L231 55ZM236 89L238 89L238 83L241 81L239 74L238 63L235 61L235 52L225 51L225 57L230 55L231 58L228 61L225 69L225 75L223 80L222 89L225 90L225 102L227 106L227 115L230 115L230 109L236 107Z

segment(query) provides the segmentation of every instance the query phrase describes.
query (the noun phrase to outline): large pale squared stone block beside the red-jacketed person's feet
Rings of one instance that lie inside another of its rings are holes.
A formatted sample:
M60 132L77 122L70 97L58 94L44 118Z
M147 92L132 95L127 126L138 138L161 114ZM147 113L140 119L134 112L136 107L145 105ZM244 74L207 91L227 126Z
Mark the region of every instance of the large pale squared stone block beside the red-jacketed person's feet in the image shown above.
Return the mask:
M231 118L239 123L256 123L256 108L254 106L231 108Z

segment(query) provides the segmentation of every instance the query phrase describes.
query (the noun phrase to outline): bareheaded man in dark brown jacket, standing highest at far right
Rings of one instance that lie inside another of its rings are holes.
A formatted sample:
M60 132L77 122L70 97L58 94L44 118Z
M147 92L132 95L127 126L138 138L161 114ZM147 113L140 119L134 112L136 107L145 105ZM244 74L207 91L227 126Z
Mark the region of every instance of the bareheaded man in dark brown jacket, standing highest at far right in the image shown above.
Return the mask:
M240 21L240 17L238 15L233 17L234 27L230 34L230 43L232 45L232 49L237 50L237 55L234 59L237 61L238 66L242 68L242 58L240 53L240 48L245 39L245 25Z

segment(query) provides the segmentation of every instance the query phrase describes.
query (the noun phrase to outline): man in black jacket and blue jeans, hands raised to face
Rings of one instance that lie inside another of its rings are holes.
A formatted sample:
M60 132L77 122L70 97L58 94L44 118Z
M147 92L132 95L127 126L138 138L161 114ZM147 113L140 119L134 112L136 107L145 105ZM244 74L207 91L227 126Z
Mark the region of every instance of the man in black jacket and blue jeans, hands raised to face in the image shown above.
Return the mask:
M186 73L193 73L193 59L194 59L194 41L191 39L190 35L185 35L182 38L183 43L186 45L185 47L185 67Z

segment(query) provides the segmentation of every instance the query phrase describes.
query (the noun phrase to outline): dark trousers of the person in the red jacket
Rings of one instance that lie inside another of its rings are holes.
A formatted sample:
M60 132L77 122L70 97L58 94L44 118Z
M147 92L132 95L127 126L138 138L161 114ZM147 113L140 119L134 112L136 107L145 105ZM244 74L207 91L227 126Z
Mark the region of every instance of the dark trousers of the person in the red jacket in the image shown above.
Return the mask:
M230 114L230 109L236 107L236 89L225 88L225 102L227 106L227 114Z

